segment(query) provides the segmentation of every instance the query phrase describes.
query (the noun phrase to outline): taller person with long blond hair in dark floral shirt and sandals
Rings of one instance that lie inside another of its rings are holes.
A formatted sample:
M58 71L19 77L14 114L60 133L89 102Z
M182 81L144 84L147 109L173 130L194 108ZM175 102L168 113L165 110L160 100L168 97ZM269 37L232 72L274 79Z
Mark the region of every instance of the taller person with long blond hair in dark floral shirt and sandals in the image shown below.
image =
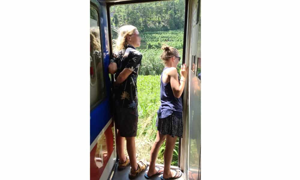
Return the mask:
M135 26L120 27L118 38L113 40L115 58L109 65L109 73L115 74L113 85L114 120L118 129L116 146L119 155L118 170L124 170L131 164L129 178L134 179L146 170L147 161L137 163L135 137L138 122L137 76L142 54L136 49L141 44L139 31ZM128 156L125 156L124 142Z

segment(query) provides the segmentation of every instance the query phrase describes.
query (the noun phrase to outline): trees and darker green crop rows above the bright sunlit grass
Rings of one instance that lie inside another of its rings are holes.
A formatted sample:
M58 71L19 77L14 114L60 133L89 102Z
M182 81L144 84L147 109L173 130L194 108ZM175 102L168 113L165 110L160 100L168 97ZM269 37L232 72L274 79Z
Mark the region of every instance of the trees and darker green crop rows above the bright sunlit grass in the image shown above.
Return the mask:
M136 26L140 32L141 46L137 48L143 54L140 75L161 74L164 64L160 48L163 44L178 49L182 58L184 9L184 0L110 7L112 39L117 38L117 29L126 24Z

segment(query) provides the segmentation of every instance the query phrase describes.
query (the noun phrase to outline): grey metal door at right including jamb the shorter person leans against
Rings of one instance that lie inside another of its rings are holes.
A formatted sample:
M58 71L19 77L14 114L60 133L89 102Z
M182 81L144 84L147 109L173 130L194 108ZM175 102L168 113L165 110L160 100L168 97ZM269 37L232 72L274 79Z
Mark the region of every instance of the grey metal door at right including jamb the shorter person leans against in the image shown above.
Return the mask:
M186 64L189 76L185 94L185 140L183 142L183 164L185 179L196 180L200 177L201 157L201 28L200 28L200 0L191 0L188 4L187 20L187 55Z

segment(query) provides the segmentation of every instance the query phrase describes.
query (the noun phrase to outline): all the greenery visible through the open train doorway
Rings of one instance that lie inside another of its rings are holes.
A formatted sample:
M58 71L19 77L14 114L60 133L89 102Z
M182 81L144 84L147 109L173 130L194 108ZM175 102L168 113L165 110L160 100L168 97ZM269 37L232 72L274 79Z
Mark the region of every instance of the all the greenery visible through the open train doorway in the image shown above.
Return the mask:
M139 159L149 162L149 152L155 141L157 110L160 106L160 75L164 69L160 49L163 44L179 50L182 59L184 46L185 1L156 1L110 6L111 38L117 38L117 29L122 25L136 26L142 37L142 63L138 72L139 122L136 148ZM179 72L182 61L179 62ZM179 73L180 75L180 73ZM126 143L125 143L126 145ZM165 144L161 146L157 163L164 163ZM125 148L126 150L126 148ZM127 153L127 152L125 152ZM171 165L178 166L179 139L173 152Z

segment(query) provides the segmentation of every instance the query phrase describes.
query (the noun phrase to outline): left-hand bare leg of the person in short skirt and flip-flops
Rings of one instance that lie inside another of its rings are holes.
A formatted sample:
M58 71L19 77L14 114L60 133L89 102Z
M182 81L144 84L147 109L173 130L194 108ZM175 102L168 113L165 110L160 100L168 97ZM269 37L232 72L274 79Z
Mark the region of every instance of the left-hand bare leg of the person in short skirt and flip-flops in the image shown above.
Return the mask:
M155 162L159 149L161 148L161 145L164 143L165 139L166 135L159 134L159 131L157 131L155 142L153 143L150 151L150 165L147 173L148 176L152 176L157 173L157 170L155 170Z

